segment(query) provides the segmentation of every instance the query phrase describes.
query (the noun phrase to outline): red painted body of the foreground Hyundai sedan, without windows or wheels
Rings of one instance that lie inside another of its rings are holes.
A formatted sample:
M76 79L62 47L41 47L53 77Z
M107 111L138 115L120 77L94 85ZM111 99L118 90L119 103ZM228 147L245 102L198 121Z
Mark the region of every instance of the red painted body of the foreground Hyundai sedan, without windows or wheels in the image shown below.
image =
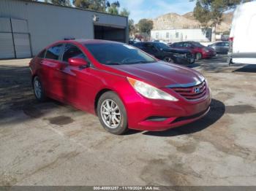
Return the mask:
M138 130L167 130L193 122L203 117L209 110L211 96L206 81L204 95L192 100L184 98L172 88L167 87L203 82L205 79L202 74L193 69L163 61L108 66L99 63L83 44L117 42L68 40L55 44L59 43L75 44L89 58L93 66L80 69L77 66L69 66L63 61L53 61L36 56L29 63L31 74L32 77L39 77L45 94L50 98L96 114L99 96L105 91L114 91L121 98L127 110L129 128ZM135 91L127 77L164 90L178 98L178 101L145 98ZM162 117L163 120L151 120L154 117Z

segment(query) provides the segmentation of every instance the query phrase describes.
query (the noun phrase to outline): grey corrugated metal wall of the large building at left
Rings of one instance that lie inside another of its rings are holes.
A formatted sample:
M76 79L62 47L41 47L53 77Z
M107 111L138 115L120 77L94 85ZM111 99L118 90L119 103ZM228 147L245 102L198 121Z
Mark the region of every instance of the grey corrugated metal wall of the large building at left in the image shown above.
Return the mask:
M29 1L0 1L0 17L27 21L33 55L48 44L67 36L75 39L94 39L93 15L99 16L97 24L128 28L127 17ZM18 30L22 30L24 25L19 24Z

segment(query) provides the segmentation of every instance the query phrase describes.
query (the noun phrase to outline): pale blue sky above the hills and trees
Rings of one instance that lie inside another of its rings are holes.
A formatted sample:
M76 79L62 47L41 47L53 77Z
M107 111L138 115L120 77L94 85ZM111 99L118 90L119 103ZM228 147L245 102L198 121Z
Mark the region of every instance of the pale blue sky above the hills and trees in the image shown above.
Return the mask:
M118 0L121 8L129 10L135 23L142 18L156 18L169 12L183 15L192 12L196 1L189 0Z

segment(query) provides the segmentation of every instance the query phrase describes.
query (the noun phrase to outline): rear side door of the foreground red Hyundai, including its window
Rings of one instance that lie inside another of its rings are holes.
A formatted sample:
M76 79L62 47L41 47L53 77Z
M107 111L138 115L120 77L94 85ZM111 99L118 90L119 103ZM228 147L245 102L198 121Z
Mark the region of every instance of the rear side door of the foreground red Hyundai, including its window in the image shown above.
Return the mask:
M45 58L40 62L39 79L42 81L44 90L54 98L61 98L60 85L56 81L56 71L61 67L59 60L63 44L55 44L45 52Z

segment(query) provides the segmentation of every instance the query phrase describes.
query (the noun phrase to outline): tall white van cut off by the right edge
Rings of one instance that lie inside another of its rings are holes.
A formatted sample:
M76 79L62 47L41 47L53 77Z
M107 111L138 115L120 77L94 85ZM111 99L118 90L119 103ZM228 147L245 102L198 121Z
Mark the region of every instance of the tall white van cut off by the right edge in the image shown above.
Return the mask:
M256 1L236 7L230 31L228 63L256 64Z

